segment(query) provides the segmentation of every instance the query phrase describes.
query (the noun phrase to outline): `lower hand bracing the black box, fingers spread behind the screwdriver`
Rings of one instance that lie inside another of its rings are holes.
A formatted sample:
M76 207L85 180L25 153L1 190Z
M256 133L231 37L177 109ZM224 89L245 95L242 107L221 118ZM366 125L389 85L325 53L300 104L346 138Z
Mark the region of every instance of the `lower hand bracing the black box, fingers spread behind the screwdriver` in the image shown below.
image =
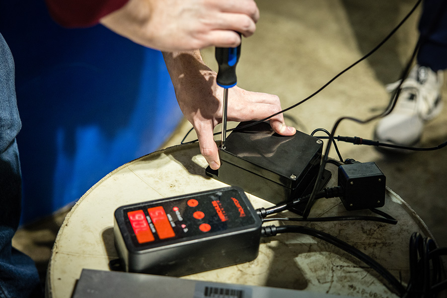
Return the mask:
M174 84L175 94L185 118L193 125L200 152L212 169L221 165L213 131L222 122L224 89L216 83L216 73L202 61L198 51L163 53ZM281 111L279 97L251 92L234 86L228 89L228 121L264 119ZM284 136L294 135L295 128L286 126L283 115L270 119L273 130Z

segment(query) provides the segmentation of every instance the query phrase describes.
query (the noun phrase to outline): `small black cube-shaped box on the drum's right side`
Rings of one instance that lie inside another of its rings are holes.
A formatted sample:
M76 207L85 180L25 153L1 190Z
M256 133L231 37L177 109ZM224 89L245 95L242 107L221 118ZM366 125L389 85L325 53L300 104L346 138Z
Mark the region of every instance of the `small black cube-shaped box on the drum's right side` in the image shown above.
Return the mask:
M386 178L375 162L354 161L338 167L340 200L346 210L379 208L385 205Z

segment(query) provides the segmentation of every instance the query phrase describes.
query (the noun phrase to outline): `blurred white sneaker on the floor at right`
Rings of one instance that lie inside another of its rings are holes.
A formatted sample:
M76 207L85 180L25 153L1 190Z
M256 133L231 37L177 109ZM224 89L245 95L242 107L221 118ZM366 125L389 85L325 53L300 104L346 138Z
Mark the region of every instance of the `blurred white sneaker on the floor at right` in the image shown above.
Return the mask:
M400 81L386 86L393 92ZM415 146L421 139L424 123L438 116L443 108L443 73L415 65L402 83L394 110L380 119L374 130L375 140L401 146Z

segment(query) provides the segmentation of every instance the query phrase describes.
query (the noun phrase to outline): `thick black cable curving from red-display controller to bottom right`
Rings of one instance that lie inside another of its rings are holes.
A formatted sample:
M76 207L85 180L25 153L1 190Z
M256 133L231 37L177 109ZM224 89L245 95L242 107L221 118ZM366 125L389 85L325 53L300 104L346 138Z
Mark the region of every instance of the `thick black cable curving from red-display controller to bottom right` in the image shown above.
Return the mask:
M261 230L261 235L264 237L275 236L278 233L301 233L310 235L313 237L317 237L321 240L324 240L328 243L331 243L354 257L358 258L368 266L370 266L373 270L375 270L378 274L380 274L398 293L399 296L402 296L405 293L405 288L400 284L400 282L391 274L388 270L386 270L382 265L380 265L377 261L372 259L370 256L355 248L354 246L322 231L317 229L313 229L306 226L299 225L281 225L281 226L264 226Z

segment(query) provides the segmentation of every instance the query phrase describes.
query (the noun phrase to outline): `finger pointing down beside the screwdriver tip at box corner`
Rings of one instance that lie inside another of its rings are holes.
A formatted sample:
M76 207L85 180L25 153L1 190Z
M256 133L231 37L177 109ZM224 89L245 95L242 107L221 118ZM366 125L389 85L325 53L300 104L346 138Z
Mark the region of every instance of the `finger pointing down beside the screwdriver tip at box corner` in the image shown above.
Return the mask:
M208 164L213 170L217 170L221 166L219 159L219 149L213 136L213 125L199 124L194 126L199 139L200 153L207 160Z

